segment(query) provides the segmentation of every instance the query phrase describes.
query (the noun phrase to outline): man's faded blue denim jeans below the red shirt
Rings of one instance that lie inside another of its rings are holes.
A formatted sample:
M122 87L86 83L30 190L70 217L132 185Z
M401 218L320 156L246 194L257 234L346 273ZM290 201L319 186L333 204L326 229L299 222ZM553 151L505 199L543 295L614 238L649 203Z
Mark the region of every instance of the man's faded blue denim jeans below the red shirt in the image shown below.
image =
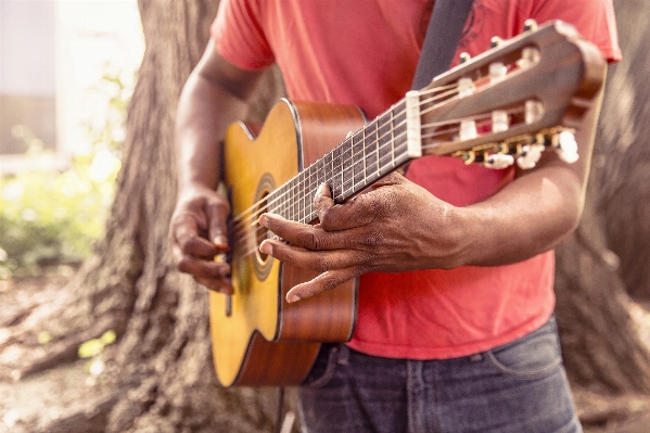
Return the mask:
M454 359L323 346L298 395L304 433L582 432L553 318L514 342Z

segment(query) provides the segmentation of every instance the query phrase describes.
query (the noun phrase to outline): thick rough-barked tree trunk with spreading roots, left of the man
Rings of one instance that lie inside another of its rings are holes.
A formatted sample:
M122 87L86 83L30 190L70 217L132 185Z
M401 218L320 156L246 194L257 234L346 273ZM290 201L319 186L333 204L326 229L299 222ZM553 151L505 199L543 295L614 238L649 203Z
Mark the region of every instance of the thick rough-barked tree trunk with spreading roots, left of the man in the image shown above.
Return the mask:
M55 338L91 330L73 338L68 357L76 356L78 343L116 331L119 342L109 375L117 378L119 392L104 408L110 410L107 433L269 431L276 411L273 390L218 385L207 291L176 271L167 241L177 194L177 101L203 54L217 3L139 1L146 50L106 235L69 288L78 289L71 303L75 307L44 324L60 330ZM282 91L272 71L252 110L257 119Z

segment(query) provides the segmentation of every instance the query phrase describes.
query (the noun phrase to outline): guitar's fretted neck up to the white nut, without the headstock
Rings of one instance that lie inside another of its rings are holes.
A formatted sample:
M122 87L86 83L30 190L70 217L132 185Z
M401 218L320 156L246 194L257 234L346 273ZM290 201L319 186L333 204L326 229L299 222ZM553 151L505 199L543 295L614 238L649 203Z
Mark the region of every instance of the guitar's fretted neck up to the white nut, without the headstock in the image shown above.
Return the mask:
M286 219L313 222L316 190L327 183L335 203L422 155L418 92L368 123L267 196L268 209Z

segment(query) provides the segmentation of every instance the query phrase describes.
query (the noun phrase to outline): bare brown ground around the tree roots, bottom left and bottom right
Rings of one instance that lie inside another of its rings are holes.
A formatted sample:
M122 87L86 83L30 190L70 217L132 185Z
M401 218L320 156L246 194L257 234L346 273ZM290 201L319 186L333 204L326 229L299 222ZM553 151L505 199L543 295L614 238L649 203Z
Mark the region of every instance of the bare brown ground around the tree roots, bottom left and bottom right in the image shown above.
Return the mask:
M55 304L69 278L56 275L0 281L0 433L103 431L106 410L116 397L109 386L116 372L101 357L53 366L22 379L15 368L30 356L24 345L12 343L12 332L18 329L15 324L24 328L35 308ZM40 349L36 346L33 352ZM110 358L111 351L111 346L104 348L104 357ZM650 432L650 395L613 396L573 389L586 433Z

